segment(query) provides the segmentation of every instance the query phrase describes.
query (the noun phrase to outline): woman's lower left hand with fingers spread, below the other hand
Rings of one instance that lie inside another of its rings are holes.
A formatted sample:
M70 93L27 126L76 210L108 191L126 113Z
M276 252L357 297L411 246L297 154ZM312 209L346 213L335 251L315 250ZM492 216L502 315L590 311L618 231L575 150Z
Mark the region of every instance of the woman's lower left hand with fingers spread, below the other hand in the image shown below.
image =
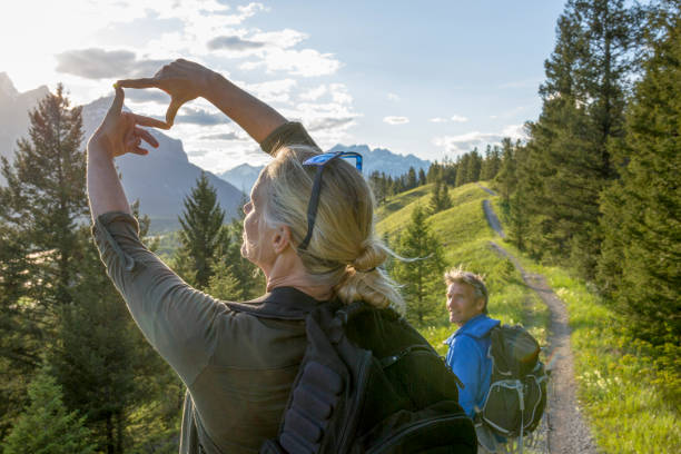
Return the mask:
M139 126L148 126L161 129L169 127L157 119L144 117L122 111L125 93L119 85L115 85L116 97L107 112L103 121L97 128L88 142L88 150L96 152L92 148L98 148L109 156L115 158L127 152L136 155L147 155L149 151L141 148L141 141L145 140L154 148L158 147L158 141L146 129Z

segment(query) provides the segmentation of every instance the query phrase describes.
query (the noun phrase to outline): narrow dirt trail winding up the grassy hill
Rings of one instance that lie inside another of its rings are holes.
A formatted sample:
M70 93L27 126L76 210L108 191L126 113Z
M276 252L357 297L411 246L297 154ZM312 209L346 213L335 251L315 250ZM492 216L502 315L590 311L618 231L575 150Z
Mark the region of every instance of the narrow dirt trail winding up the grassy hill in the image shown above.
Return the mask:
M481 186L481 188L485 189ZM503 238L499 219L488 201L483 205L490 226ZM491 216L492 215L492 216ZM496 219L496 224L493 223ZM496 228L495 226L499 226ZM551 385L546 417L549 423L547 444L552 454L596 454L589 426L582 418L576 399L576 383L574 381L574 362L570 346L571 328L568 324L565 304L551 289L544 276L527 273L517 258L494 241L490 245L499 254L507 257L521 272L525 285L532 288L546 304L551 312L549 334L549 364L551 368Z

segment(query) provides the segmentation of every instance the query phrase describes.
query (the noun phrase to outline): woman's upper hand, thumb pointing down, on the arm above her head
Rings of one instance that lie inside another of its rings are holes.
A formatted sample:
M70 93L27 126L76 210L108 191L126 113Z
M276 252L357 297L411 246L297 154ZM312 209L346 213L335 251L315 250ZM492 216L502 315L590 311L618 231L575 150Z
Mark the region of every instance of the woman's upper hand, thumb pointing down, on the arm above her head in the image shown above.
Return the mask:
M171 127L179 108L185 102L205 96L215 76L208 68L180 58L164 66L151 78L125 79L117 83L129 88L160 88L170 95L166 124Z

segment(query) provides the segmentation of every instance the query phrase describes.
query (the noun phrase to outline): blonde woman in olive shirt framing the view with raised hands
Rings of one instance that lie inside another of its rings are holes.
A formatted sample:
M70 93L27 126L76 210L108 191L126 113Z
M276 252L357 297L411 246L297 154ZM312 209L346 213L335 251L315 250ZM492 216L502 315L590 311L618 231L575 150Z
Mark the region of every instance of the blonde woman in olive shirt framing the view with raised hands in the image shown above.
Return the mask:
M139 240L114 158L147 154L142 140L157 147L140 126L169 128L179 107L197 97L258 141L274 160L244 207L241 253L265 274L265 306L334 297L402 305L377 268L388 249L374 231L372 191L351 162L319 156L299 124L200 65L177 60L154 78L115 87L111 108L88 144L92 231L102 261L149 343L187 385L180 452L257 452L277 434L306 346L305 327L231 310L166 267ZM166 122L121 112L124 87L168 92Z

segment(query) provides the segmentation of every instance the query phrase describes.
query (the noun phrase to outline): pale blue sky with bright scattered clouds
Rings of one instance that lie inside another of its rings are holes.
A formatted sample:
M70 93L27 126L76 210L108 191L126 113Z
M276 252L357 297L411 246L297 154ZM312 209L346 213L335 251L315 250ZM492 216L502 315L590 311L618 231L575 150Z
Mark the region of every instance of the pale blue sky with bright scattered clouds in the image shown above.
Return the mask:
M0 72L19 91L62 82L75 103L197 61L299 120L323 148L366 144L452 159L522 138L562 0L21 0L0 14ZM8 45L9 43L9 45ZM126 106L164 116L159 90ZM189 160L220 172L268 157L204 99L167 132Z

